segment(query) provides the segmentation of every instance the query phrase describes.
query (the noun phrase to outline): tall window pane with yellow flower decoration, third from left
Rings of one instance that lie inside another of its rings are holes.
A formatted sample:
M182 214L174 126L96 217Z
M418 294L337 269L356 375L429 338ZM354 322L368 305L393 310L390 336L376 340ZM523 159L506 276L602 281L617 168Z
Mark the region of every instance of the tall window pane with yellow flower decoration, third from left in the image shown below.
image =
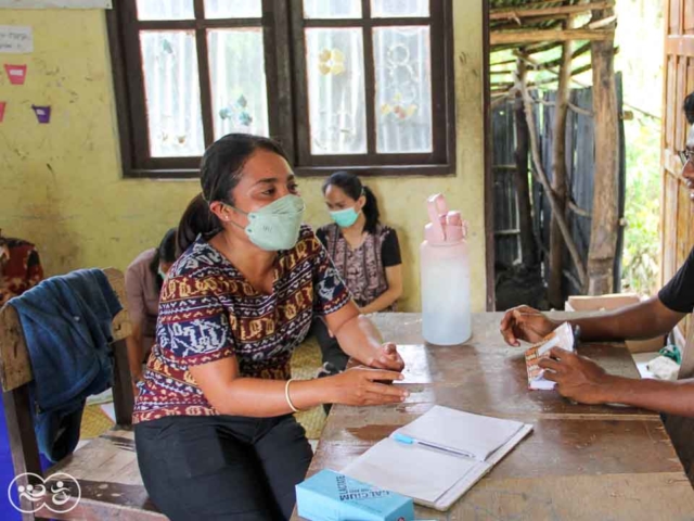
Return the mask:
M365 153L361 29L306 29L306 53L311 153Z

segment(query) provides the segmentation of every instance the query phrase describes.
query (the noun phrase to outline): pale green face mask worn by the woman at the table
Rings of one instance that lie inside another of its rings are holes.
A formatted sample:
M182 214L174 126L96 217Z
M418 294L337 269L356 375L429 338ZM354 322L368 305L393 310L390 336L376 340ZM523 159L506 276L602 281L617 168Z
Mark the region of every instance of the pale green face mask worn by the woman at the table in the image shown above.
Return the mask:
M248 226L236 226L261 250L291 250L299 239L306 205L298 195L284 195L256 212L244 212L235 206L228 206L248 216Z

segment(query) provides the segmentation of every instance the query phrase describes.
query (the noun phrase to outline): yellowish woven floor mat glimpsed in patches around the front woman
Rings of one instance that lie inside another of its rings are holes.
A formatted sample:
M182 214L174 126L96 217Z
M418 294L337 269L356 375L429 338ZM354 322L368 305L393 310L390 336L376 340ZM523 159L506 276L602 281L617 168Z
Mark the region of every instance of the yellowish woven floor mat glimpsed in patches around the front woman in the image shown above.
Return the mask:
M294 356L292 357L292 376L300 380L316 378L320 366L320 347L313 339L310 339L294 352ZM309 440L318 440L321 437L321 432L323 432L323 427L325 427L325 412L323 412L323 407L314 407L306 412L298 412L296 419L306 430L306 437ZM85 407L85 414L82 415L79 437L80 440L99 437L112 427L114 427L114 422L101 410L98 404L88 405Z

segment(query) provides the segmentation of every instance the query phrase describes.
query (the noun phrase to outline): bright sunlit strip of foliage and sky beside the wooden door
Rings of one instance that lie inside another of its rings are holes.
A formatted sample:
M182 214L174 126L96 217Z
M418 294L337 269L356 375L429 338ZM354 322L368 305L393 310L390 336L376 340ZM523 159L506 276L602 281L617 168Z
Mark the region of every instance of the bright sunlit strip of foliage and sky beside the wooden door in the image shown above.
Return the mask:
M661 0L617 0L615 68L624 75L627 193L622 291L654 294L660 285ZM643 111L650 115L643 114ZM653 117L655 116L655 117Z

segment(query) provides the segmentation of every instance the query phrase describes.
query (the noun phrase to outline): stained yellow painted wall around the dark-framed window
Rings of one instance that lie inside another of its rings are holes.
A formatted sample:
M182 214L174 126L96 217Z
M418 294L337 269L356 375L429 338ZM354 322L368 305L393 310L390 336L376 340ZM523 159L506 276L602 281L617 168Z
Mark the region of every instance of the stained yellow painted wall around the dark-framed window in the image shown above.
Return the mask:
M464 7L463 7L464 4ZM455 176L376 178L384 221L401 239L406 274L402 310L419 310L417 247L424 198L442 191L470 221L473 308L485 307L481 0L454 2ZM92 266L125 268L178 223L197 181L123 179L105 16L102 11L0 9L0 25L34 28L35 52L0 54L26 63L22 87L0 76L0 228L39 246L48 275ZM38 125L31 104L50 104ZM304 179L308 221L327 220L320 179Z

